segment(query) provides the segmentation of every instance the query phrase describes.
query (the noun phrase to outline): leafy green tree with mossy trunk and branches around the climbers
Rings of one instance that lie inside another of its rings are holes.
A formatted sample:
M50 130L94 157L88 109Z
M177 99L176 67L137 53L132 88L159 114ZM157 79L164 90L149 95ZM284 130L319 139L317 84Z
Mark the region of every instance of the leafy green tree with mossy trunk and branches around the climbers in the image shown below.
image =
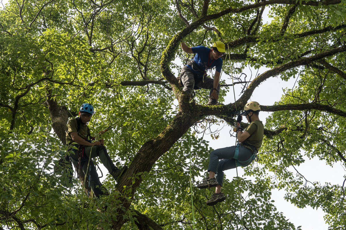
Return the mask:
M345 229L346 176L322 185L288 170L303 155L346 166L345 5L10 0L0 12L0 229L299 229L275 208L273 188L298 208L324 210L330 229ZM263 23L268 8L273 20ZM190 103L173 73L182 68L175 60L192 58L182 40L225 43L222 74L234 82L222 78L219 100L234 86L242 89L235 103L204 105L205 90ZM249 79L247 66L269 70ZM256 180L226 178L227 200L207 206L211 192L190 188L211 151L197 133L222 123L233 129L236 110L276 76L298 80L275 104L261 105L273 113L258 164L245 168ZM53 170L66 155L66 123L84 102L95 107L92 134L109 127L102 138L111 158L129 166L118 184L103 172L109 195L99 199Z

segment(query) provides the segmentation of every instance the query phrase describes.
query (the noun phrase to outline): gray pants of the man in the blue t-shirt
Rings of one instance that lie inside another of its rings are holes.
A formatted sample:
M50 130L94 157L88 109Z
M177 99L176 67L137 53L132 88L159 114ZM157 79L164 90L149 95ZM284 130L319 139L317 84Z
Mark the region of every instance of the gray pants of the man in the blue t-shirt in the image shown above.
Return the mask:
M195 79L195 75L192 73L191 69L188 66L184 66L181 69L180 72L180 81L183 85L183 91L191 94L193 87L195 86L195 80L197 80L197 78ZM198 79L200 80L200 79ZM202 88L202 89L207 89L210 90L209 92L209 96L210 94L213 92L213 88L214 88L214 79L211 79L210 77L204 76L204 83L203 80L199 81L196 84L197 87ZM220 83L217 86L217 90L216 90L217 95L219 95L220 93Z

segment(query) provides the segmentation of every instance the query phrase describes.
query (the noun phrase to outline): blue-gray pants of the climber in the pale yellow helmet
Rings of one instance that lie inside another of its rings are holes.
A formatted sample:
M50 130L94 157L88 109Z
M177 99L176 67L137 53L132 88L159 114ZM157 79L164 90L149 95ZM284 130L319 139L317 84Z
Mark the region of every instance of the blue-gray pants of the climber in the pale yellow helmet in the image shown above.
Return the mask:
M237 166L243 166L239 163L236 163L236 159L234 158L236 147L237 146L219 148L219 149L215 149L214 151L211 151L210 153L208 172L211 171L211 172L217 173L216 180L221 186L222 186L222 182L224 181L225 170L236 168ZM239 145L237 159L240 162L245 162L252 157L253 157L253 152L251 151L251 149L248 149L242 145ZM252 161L253 159L251 159L247 165L249 165Z

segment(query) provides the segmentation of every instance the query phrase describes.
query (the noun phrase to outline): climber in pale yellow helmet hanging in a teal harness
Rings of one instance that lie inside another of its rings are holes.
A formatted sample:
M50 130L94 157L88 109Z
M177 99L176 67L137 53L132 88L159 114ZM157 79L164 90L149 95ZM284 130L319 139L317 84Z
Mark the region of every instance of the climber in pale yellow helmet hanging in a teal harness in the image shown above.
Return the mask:
M238 145L216 149L210 153L209 176L197 185L198 188L216 187L215 194L206 202L207 205L215 205L226 200L226 196L221 193L225 170L237 166L248 166L255 159L263 140L263 123L258 118L260 111L261 106L258 102L246 103L244 112L240 115L245 116L250 124L245 130L240 126L237 127ZM237 119L239 123L242 120L241 116L240 119Z

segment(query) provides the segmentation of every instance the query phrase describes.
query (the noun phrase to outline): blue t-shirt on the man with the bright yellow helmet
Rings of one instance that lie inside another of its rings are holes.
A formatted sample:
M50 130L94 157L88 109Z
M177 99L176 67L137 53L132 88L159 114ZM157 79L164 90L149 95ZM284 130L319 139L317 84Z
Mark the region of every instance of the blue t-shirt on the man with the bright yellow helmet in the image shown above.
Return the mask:
M210 50L211 49L205 46L192 47L192 52L196 54L193 57L193 59L199 65L199 68L201 70L209 70L216 66L216 71L221 73L222 59L220 57L218 59L213 59L213 60L208 58L210 54ZM208 59L209 59L209 63L208 63ZM201 72L193 70L192 66L190 65L187 65L187 66L192 70L195 76L197 76L198 78L202 77L203 74Z

